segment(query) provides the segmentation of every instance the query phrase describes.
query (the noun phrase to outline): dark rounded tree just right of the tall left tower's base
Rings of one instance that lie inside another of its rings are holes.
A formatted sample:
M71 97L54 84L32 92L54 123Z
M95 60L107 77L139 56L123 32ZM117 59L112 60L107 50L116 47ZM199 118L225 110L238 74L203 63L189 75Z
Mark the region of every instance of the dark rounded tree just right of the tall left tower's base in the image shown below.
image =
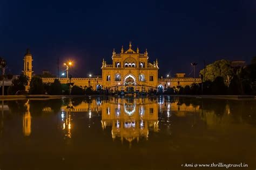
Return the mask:
M41 77L33 76L30 81L29 94L31 95L43 95L44 94L44 84Z

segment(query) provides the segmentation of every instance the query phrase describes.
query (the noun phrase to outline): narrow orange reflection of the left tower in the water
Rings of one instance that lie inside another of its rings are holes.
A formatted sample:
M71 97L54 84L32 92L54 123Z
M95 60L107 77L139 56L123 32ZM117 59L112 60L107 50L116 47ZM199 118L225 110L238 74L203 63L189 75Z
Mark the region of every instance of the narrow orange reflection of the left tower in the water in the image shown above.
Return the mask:
M30 136L31 134L31 115L29 100L26 102L26 112L23 114L23 134L24 136Z

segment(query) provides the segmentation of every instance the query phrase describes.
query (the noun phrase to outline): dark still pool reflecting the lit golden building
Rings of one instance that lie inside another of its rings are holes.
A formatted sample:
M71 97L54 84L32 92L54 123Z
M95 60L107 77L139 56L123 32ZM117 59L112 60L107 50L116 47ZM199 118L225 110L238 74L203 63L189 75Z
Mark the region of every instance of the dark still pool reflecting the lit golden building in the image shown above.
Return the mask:
M256 168L256 100L8 100L0 118L1 170Z

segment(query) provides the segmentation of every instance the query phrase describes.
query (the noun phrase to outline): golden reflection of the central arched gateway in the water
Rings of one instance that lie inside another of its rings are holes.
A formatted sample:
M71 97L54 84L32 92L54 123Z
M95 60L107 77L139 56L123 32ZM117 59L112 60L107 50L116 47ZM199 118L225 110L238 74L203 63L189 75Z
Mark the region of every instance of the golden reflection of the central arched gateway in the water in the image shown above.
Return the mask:
M112 138L131 142L158 131L158 105L149 98L111 98L102 104L102 128L112 126Z

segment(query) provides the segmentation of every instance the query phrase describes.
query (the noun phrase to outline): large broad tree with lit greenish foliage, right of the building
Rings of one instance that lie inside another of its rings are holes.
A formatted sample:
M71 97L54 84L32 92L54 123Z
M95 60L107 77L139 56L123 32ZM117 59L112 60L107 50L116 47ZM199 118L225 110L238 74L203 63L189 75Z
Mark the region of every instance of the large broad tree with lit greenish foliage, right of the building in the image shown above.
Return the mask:
M229 86L231 79L235 75L231 61L218 60L204 69L200 70L200 74L204 76L204 80L214 81L217 77L223 77L226 86Z

